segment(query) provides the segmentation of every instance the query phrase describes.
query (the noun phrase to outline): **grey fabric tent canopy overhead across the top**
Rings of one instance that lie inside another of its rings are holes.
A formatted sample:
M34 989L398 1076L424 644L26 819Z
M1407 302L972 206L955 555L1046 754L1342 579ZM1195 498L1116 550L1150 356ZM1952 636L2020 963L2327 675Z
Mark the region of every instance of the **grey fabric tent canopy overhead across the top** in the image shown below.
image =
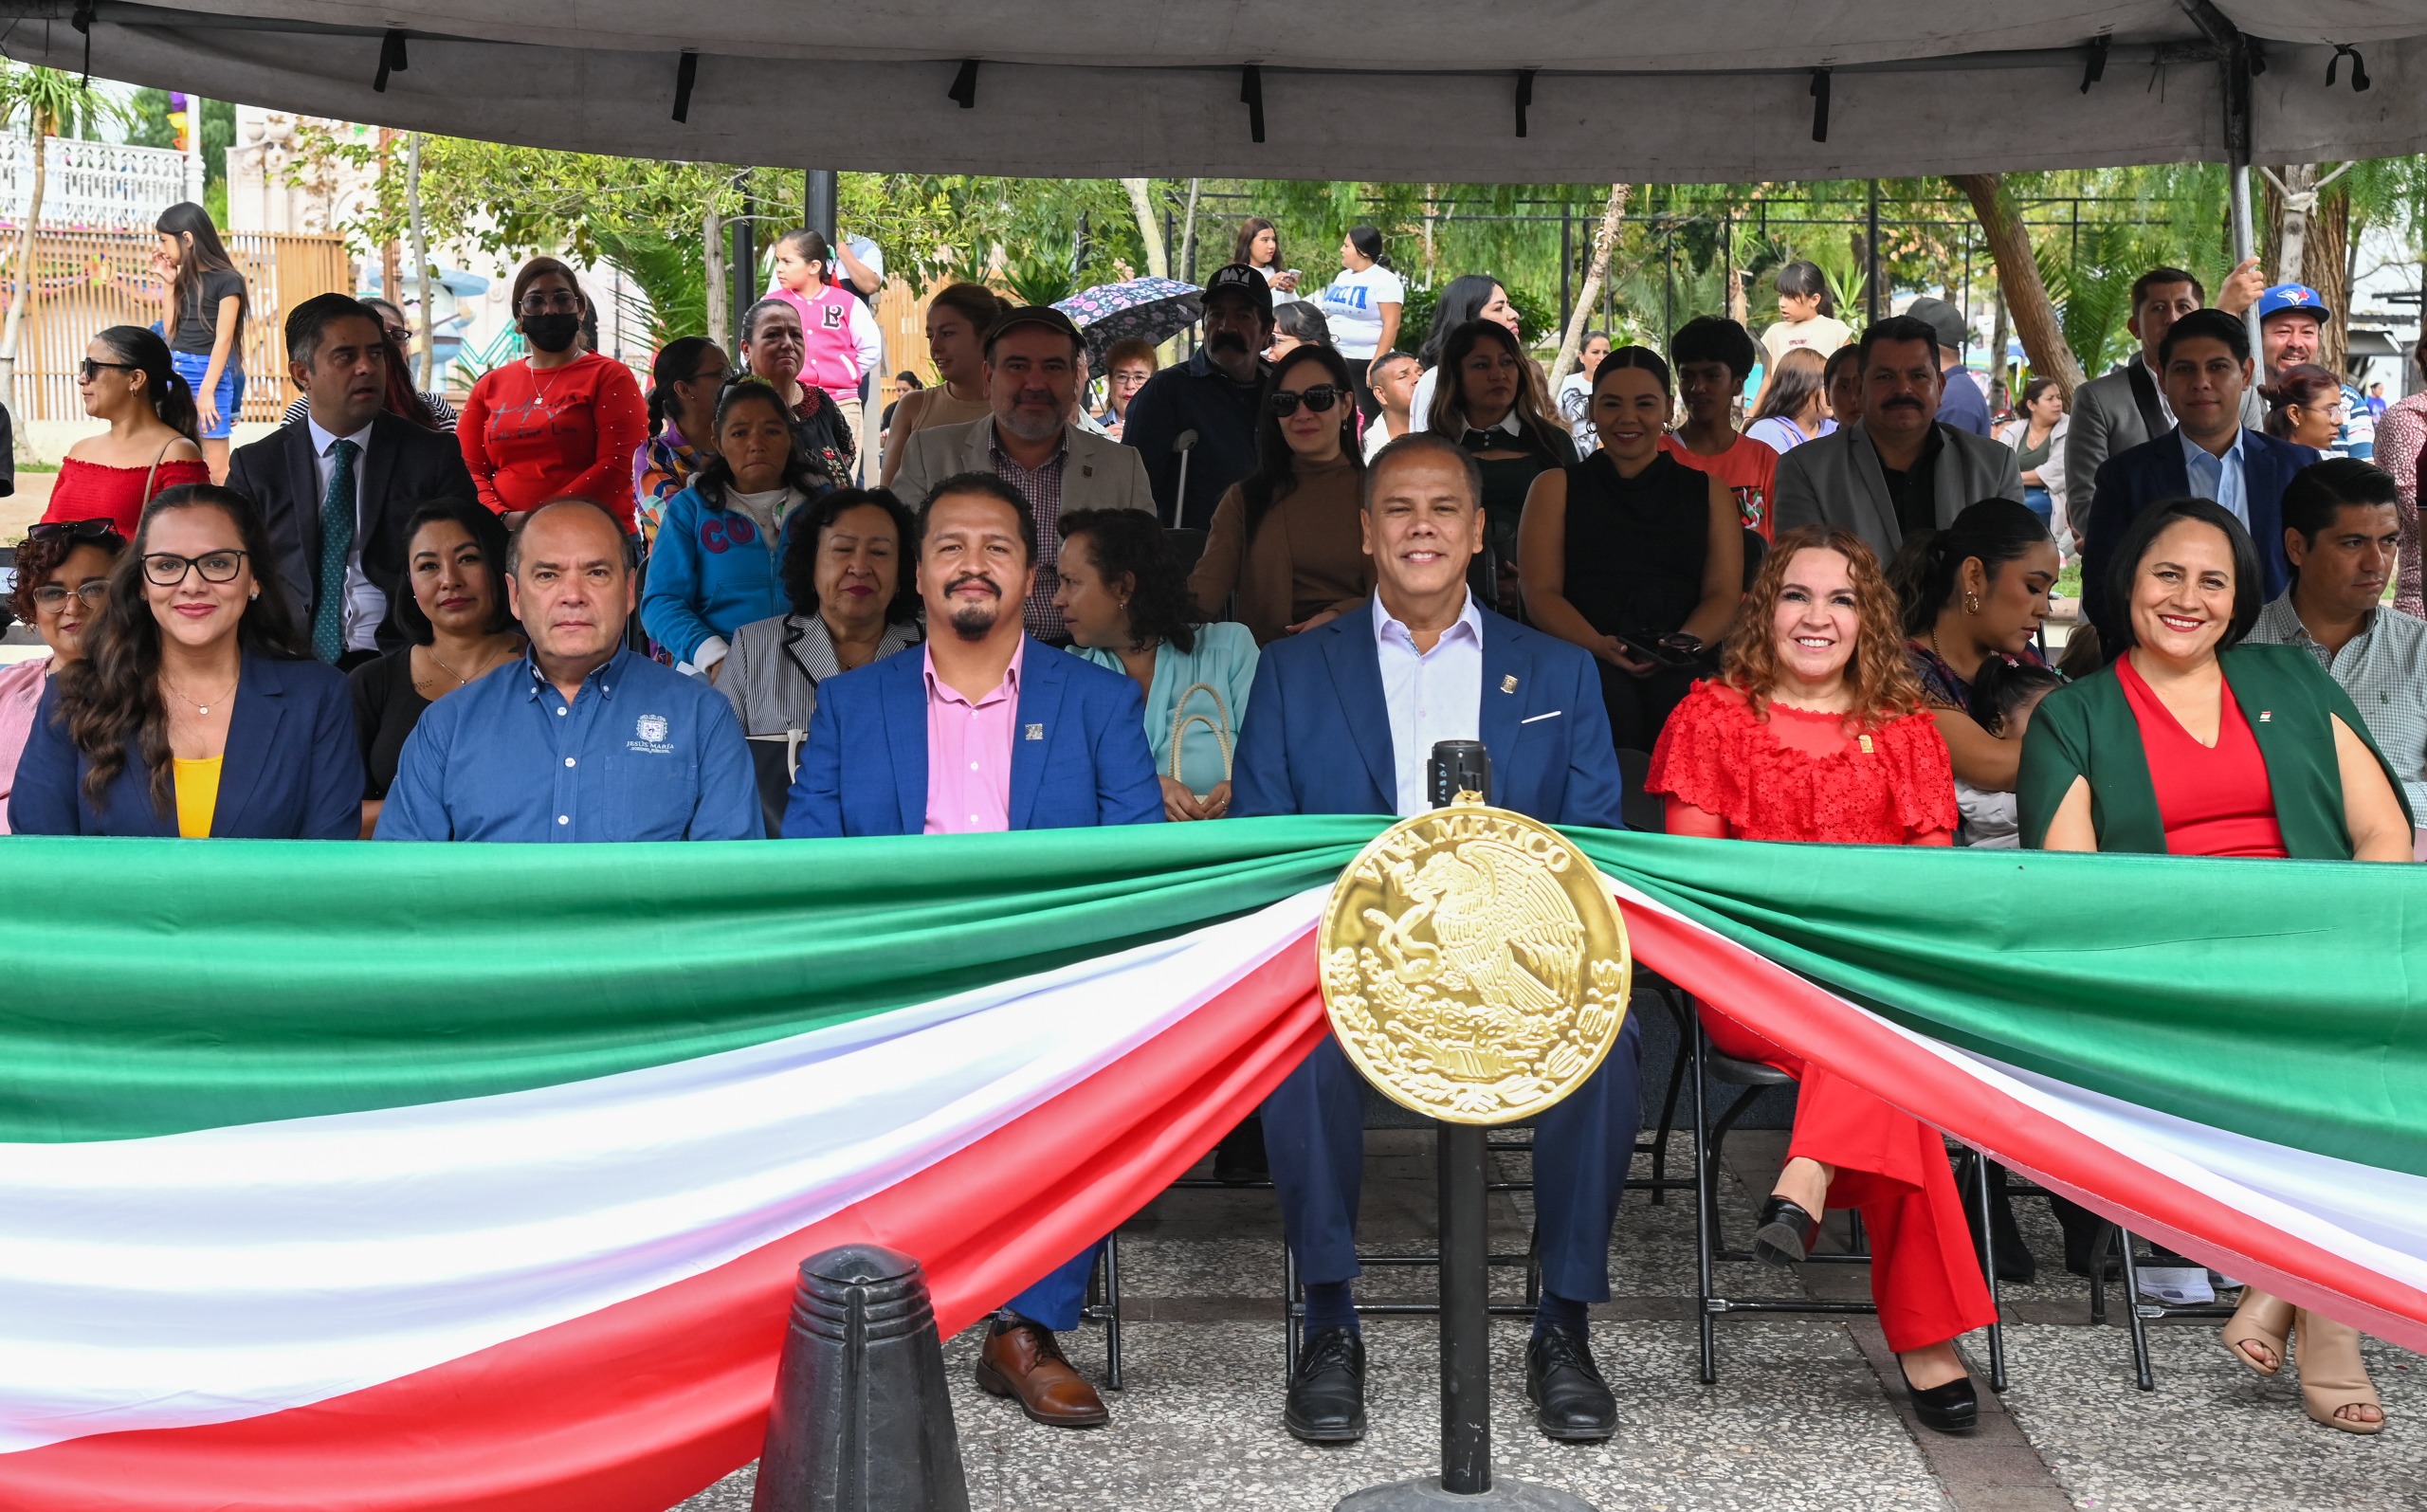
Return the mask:
M1354 7L1352 7L1354 2ZM1337 15L1325 17L1328 10ZM2427 146L2427 0L2218 0L2257 39L2262 163ZM83 68L73 0L0 51ZM100 0L92 68L529 146L896 172L1449 182L1803 180L2226 158L2182 0ZM388 27L408 68L371 83ZM2104 78L2082 92L2090 39ZM1781 41L1774 41L1781 39ZM2325 83L2335 44L2359 46ZM699 53L675 121L680 53ZM978 61L976 104L947 92ZM1243 68L1260 68L1264 141ZM1828 68L1828 141L1813 141ZM1519 70L1529 80L1517 136Z

